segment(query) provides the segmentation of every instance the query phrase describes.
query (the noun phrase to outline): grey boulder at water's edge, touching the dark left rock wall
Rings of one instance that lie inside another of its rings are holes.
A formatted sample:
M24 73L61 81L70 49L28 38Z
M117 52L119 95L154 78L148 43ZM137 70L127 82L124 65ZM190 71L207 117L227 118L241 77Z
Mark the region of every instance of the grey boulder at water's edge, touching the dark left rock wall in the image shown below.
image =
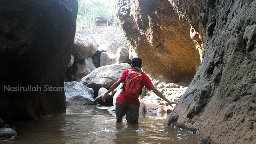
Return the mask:
M67 104L94 104L94 91L79 82L65 82Z

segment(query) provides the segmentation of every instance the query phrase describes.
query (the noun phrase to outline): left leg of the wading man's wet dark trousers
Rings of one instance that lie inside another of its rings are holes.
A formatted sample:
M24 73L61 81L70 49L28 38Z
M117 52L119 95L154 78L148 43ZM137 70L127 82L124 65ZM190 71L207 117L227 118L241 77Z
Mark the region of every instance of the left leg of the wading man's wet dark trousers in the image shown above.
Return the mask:
M116 103L116 122L122 122L123 117L127 112L127 102L118 102Z

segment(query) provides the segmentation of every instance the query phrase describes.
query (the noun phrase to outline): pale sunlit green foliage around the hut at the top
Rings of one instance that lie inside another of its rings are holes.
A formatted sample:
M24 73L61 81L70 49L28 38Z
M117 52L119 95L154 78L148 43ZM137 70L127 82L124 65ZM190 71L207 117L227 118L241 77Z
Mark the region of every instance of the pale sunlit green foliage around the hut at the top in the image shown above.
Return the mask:
M114 0L78 0L77 25L92 28L96 17L114 16Z

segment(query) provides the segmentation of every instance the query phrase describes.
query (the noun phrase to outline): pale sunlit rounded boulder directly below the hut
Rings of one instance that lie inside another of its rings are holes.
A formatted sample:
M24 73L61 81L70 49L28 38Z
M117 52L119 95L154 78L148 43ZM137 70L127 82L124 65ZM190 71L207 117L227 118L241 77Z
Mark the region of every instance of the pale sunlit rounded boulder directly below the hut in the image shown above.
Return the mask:
M116 51L120 46L128 47L128 41L122 30L118 27L106 28L98 36L97 42L99 44L98 50L100 52L107 52L110 54L116 54Z

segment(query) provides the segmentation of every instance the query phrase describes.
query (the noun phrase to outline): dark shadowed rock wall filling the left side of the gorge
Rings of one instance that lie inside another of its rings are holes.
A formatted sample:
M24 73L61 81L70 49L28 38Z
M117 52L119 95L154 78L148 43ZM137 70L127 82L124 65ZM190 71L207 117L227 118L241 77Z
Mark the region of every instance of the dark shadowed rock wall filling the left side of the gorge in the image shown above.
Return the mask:
M61 88L70 62L77 12L77 0L0 2L0 116L3 120L38 119L66 111ZM4 86L36 89L8 92Z

